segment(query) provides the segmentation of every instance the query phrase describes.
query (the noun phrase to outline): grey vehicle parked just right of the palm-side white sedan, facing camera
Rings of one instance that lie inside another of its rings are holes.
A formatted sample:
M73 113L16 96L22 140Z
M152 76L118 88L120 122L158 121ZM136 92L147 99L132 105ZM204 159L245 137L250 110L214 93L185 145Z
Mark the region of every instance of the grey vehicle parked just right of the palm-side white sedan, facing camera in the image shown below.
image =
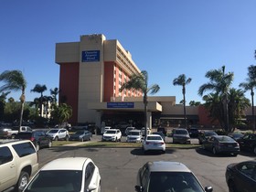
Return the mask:
M173 135L173 143L174 144L190 144L191 139L187 129L184 128L176 128L172 131Z

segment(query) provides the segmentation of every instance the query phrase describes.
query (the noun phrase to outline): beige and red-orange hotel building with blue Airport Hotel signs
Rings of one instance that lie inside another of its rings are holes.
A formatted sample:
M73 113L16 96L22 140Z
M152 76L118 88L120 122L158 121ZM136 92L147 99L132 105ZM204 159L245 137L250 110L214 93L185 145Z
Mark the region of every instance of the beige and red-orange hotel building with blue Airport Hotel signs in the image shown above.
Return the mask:
M123 82L140 69L131 53L117 39L101 34L80 36L79 42L57 43L56 63L60 66L59 101L72 107L70 123L143 123L141 91L120 91ZM176 97L148 97L148 126L153 123L180 124L182 105ZM188 124L212 124L202 107L187 107Z

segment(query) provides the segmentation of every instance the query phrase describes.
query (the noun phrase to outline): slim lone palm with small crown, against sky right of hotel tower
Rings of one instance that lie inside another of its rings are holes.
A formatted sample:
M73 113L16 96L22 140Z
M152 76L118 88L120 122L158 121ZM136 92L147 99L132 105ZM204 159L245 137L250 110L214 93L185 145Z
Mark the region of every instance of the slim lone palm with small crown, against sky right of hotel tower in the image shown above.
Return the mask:
M186 85L191 82L191 78L186 77L185 74L179 75L176 79L173 80L173 84L182 86L182 94L183 94L183 111L184 111L184 123L185 129L187 129L187 113L186 113Z

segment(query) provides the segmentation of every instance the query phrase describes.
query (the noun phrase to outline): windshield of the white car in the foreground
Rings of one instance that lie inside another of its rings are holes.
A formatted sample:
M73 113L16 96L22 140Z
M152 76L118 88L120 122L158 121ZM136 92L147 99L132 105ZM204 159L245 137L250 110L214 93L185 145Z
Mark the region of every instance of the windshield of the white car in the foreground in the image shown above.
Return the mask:
M77 170L40 171L25 191L75 192L81 189L82 172Z

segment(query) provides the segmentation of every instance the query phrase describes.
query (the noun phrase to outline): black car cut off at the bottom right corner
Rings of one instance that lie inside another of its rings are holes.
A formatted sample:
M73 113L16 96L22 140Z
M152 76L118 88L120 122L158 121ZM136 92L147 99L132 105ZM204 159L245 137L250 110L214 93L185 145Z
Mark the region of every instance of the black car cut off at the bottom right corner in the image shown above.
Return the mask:
M256 161L229 164L225 176L229 191L255 192Z

